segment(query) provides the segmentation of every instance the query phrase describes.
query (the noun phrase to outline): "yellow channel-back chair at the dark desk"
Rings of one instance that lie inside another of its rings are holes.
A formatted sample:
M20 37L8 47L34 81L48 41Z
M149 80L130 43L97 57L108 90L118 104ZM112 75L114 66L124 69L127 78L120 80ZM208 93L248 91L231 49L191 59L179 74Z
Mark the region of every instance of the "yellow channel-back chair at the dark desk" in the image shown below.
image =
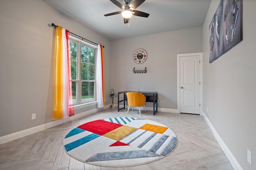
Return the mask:
M144 94L142 93L138 93L138 92L127 92L126 93L127 96L127 102L128 102L128 111L130 109L130 106L132 106L132 111L133 111L133 107L139 107L140 110L140 106L144 106L145 109L145 113L146 113L146 97L144 96ZM128 114L128 111L126 114Z

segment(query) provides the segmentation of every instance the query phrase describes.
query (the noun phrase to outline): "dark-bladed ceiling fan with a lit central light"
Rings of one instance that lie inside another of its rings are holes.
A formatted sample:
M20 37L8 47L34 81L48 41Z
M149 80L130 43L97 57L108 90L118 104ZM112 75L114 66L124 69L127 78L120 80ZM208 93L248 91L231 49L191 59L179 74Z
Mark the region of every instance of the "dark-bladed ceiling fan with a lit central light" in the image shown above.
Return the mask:
M129 19L132 15L145 17L145 18L148 18L148 16L149 16L149 14L147 14L145 12L135 10L145 0L135 0L134 2L132 2L132 4L130 4L131 0L124 0L125 6L123 4L121 4L120 2L118 2L117 0L110 0L110 1L113 2L113 4L115 4L119 8L121 8L122 11L112 12L110 14L105 14L104 16L112 16L112 15L116 15L116 14L122 14L122 16L124 17L124 23L129 23ZM128 4L130 4L130 5L128 5Z

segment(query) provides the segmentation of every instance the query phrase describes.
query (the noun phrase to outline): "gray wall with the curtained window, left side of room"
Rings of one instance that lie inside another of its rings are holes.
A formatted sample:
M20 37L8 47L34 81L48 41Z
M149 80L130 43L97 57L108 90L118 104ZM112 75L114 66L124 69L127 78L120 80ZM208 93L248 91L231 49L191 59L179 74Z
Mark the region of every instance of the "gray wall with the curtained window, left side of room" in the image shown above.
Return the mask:
M102 35L41 0L0 0L0 23L0 137L52 121L54 28L48 24L105 46L106 89L110 89L110 41Z

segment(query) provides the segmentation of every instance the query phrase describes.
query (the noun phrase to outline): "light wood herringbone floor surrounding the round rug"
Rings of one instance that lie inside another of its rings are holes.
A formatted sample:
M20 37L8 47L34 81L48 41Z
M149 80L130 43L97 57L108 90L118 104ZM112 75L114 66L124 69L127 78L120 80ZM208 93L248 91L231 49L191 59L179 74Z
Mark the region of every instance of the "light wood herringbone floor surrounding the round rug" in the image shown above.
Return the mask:
M66 154L63 139L83 123L109 117L140 117L138 111L105 109L62 125L0 145L0 170L233 170L204 118L200 115L152 111L141 118L166 125L178 138L168 156L140 166L101 167L80 162Z

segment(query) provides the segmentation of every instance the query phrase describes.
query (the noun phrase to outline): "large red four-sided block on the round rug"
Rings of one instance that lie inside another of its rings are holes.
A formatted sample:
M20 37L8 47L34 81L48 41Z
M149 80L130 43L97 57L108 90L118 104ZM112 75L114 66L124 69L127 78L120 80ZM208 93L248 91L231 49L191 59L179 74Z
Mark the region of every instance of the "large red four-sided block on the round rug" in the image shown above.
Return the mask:
M90 131L92 133L96 133L98 135L104 135L120 126L122 125L104 120L96 120L84 123L78 126L78 128Z

